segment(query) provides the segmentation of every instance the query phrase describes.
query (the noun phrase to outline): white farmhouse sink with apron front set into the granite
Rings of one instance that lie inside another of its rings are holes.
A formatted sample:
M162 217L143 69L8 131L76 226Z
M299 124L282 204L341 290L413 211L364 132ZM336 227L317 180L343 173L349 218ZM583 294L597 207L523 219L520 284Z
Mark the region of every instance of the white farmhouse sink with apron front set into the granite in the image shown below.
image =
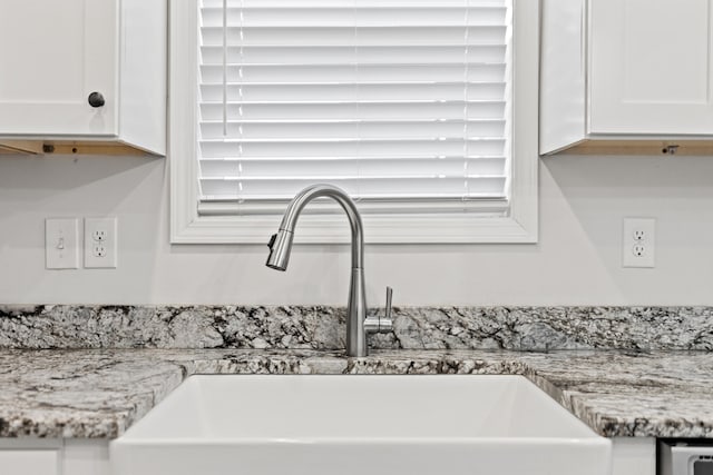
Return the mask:
M611 442L521 376L192 376L114 475L608 475Z

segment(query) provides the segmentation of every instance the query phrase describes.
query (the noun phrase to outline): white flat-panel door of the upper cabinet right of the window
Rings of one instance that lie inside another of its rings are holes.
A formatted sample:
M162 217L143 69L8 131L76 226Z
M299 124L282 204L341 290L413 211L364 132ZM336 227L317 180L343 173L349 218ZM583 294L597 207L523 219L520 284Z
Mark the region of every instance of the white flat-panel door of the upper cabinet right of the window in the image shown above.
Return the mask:
M711 135L711 0L590 0L590 133Z

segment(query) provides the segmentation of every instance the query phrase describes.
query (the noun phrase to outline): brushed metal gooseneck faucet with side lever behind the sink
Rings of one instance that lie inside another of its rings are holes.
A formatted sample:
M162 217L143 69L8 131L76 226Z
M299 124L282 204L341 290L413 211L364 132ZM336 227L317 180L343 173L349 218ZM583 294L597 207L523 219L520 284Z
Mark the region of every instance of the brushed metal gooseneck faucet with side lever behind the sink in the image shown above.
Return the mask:
M367 356L367 333L389 333L391 321L391 288L387 287L385 317L367 317L367 297L364 295L364 235L361 216L354 201L341 188L332 185L313 185L300 191L290 201L282 217L282 224L276 235L272 235L267 247L267 267L285 270L290 261L292 239L297 218L305 205L314 198L329 197L334 199L346 212L352 230L352 277L346 304L346 355Z

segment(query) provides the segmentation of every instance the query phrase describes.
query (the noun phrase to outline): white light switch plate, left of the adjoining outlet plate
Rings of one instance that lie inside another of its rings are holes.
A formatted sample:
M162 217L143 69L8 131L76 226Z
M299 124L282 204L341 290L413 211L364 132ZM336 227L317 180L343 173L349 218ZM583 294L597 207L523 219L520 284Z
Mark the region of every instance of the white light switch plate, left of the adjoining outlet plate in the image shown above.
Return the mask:
M48 269L79 268L79 219L48 218L45 220L45 267Z

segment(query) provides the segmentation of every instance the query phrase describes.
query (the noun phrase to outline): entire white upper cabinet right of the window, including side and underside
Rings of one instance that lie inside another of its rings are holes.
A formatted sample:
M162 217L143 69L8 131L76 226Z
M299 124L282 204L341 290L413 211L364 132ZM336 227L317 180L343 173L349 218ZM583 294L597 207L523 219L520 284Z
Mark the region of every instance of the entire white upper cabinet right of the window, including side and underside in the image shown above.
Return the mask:
M544 0L540 152L713 150L711 20L710 0Z

